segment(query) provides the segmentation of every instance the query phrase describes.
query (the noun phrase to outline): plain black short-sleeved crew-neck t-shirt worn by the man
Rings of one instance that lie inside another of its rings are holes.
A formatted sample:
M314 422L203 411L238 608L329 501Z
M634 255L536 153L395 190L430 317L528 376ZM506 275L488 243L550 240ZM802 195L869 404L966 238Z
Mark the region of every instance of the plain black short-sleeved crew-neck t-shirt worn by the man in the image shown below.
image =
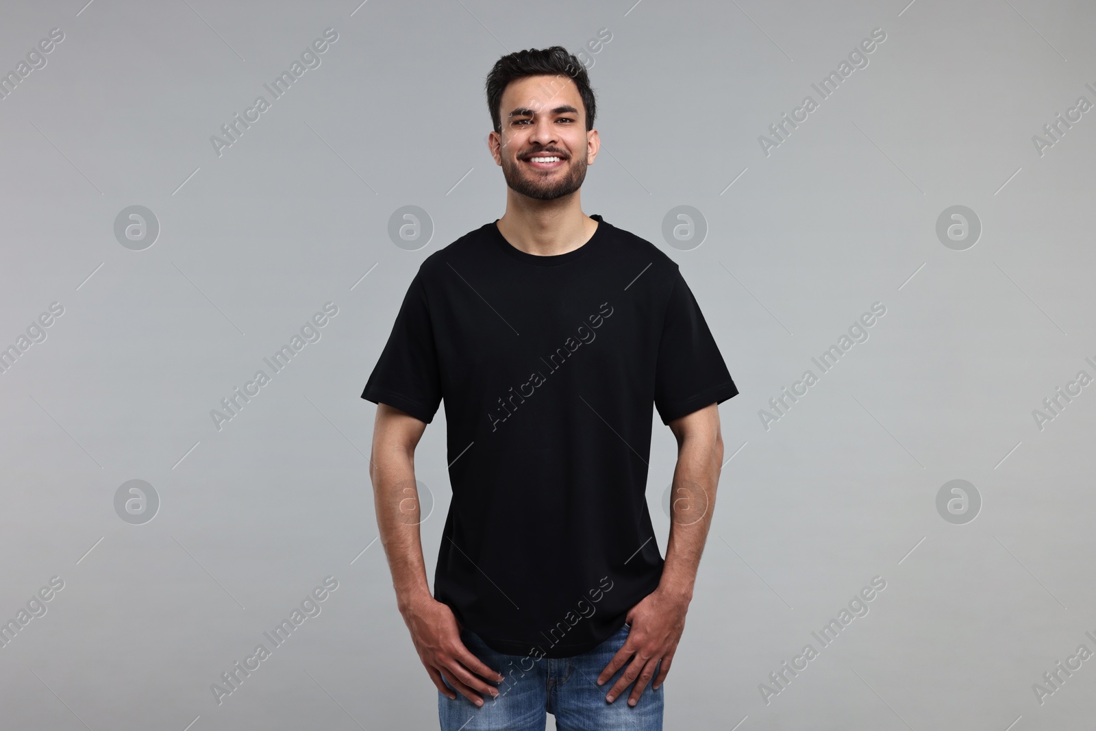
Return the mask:
M606 222L563 254L491 222L419 267L362 398L430 423L453 501L434 596L498 652L593 649L658 587L663 423L738 393L677 264Z

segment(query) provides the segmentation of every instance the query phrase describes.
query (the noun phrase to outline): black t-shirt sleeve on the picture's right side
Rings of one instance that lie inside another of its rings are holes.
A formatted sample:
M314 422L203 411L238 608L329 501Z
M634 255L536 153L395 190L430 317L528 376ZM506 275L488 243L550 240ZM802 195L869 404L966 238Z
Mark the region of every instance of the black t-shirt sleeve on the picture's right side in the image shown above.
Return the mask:
M675 269L654 375L654 407L662 423L722 403L738 392L700 306Z

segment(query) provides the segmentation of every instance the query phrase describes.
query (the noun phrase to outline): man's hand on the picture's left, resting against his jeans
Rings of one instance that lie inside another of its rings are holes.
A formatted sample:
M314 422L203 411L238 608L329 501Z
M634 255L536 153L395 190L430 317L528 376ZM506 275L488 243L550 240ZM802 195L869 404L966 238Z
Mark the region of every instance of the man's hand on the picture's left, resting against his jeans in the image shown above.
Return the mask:
M419 659L438 692L448 698L457 697L445 686L444 673L445 681L477 706L483 705L477 690L492 697L499 695L498 688L482 678L502 682L502 675L484 665L460 641L460 626L447 604L425 596L410 603L402 614Z

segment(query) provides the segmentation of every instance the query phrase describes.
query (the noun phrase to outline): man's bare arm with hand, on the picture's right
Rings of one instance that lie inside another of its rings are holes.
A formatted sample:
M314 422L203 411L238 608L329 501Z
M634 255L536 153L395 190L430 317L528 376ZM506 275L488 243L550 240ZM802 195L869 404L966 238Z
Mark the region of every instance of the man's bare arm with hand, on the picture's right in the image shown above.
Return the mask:
M671 489L666 559L658 589L628 612L631 630L624 647L597 676L598 685L606 683L635 655L606 695L609 703L633 681L628 705L639 703L648 682L654 677L655 666L659 674L651 687L658 688L665 681L685 631L685 613L693 601L693 584L716 507L723 462L718 406L712 403L675 419L670 429L677 438L677 464Z

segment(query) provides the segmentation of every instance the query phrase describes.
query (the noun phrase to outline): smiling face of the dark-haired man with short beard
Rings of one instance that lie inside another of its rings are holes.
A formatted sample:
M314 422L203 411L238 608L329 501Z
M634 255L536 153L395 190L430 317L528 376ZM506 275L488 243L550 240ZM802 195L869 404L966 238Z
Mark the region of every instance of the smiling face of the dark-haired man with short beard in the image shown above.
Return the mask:
M500 105L502 135L491 133L506 185L538 201L578 191L598 147L597 130L586 132L584 110L579 88L566 75L511 82Z

